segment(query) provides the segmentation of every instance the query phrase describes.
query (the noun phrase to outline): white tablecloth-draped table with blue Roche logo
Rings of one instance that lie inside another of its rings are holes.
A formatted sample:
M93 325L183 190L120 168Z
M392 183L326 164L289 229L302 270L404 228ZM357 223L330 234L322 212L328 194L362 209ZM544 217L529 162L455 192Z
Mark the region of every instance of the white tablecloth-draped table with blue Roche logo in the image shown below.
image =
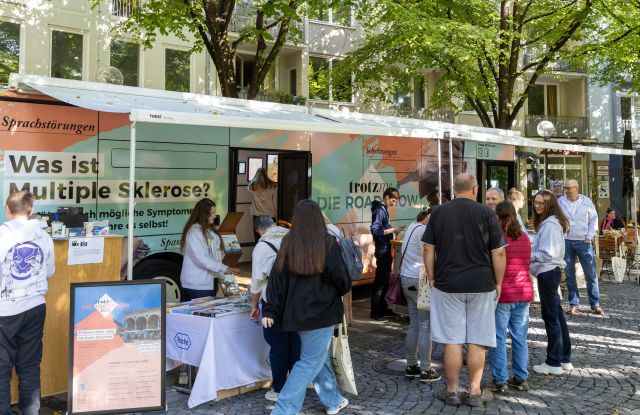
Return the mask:
M271 379L262 326L249 313L209 318L167 313L167 358L198 366L189 408L218 391Z

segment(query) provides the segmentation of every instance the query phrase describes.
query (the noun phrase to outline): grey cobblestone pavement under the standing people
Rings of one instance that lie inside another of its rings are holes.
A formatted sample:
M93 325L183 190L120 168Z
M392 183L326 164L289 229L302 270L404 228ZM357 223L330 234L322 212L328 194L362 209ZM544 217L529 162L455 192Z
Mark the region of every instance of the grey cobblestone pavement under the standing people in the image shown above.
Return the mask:
M366 293L355 293L355 320L349 331L359 395L347 395L350 405L341 414L640 414L640 285L601 283L604 317L582 313L568 318L575 369L563 376L530 374L529 392L509 390L496 395L485 408L445 406L433 385L406 380L403 339L406 321L372 322L367 317ZM584 296L581 296L584 298ZM587 307L583 306L583 311ZM530 366L544 360L546 336L540 307L531 307ZM434 365L440 370L442 346L434 348ZM240 359L241 360L241 359ZM464 370L463 370L464 372ZM485 380L490 375L485 368ZM461 385L467 385L463 377ZM190 410L186 395L167 389L171 414L267 414L273 407L264 390L203 404ZM308 391L305 414L324 414L324 408Z

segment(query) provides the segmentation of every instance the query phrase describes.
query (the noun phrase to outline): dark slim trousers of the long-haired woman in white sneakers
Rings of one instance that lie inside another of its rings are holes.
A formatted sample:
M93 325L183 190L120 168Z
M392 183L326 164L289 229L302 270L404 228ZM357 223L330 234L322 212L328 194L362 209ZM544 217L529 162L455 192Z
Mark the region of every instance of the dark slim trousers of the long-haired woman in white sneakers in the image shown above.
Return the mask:
M560 268L538 275L538 292L544 328L547 331L547 360L549 366L571 363L571 338L564 319L562 300L558 295L561 278Z

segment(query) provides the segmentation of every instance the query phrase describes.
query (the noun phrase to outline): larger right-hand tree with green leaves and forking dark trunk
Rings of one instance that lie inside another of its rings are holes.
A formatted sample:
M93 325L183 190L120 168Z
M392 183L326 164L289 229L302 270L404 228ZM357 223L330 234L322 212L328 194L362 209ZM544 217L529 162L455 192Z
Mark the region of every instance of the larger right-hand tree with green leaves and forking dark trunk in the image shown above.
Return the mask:
M359 18L365 41L336 76L353 72L365 96L385 99L425 70L437 71L432 107L463 102L458 109L472 108L483 125L503 129L541 74L560 59L585 64L614 36L591 35L611 20L602 0L369 0Z

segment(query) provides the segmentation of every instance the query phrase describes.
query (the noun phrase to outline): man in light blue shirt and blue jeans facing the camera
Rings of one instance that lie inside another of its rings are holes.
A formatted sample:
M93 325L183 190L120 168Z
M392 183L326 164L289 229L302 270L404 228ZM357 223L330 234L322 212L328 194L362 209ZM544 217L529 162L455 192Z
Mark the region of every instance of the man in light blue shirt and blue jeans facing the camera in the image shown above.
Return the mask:
M577 180L567 180L566 196L560 196L558 203L564 216L569 220L569 232L565 237L564 261L567 263L565 276L569 292L567 314L580 313L580 294L576 282L576 256L582 265L587 282L587 296L594 314L603 315L600 306L600 288L596 275L596 259L592 241L598 232L598 212L591 199L580 194Z

